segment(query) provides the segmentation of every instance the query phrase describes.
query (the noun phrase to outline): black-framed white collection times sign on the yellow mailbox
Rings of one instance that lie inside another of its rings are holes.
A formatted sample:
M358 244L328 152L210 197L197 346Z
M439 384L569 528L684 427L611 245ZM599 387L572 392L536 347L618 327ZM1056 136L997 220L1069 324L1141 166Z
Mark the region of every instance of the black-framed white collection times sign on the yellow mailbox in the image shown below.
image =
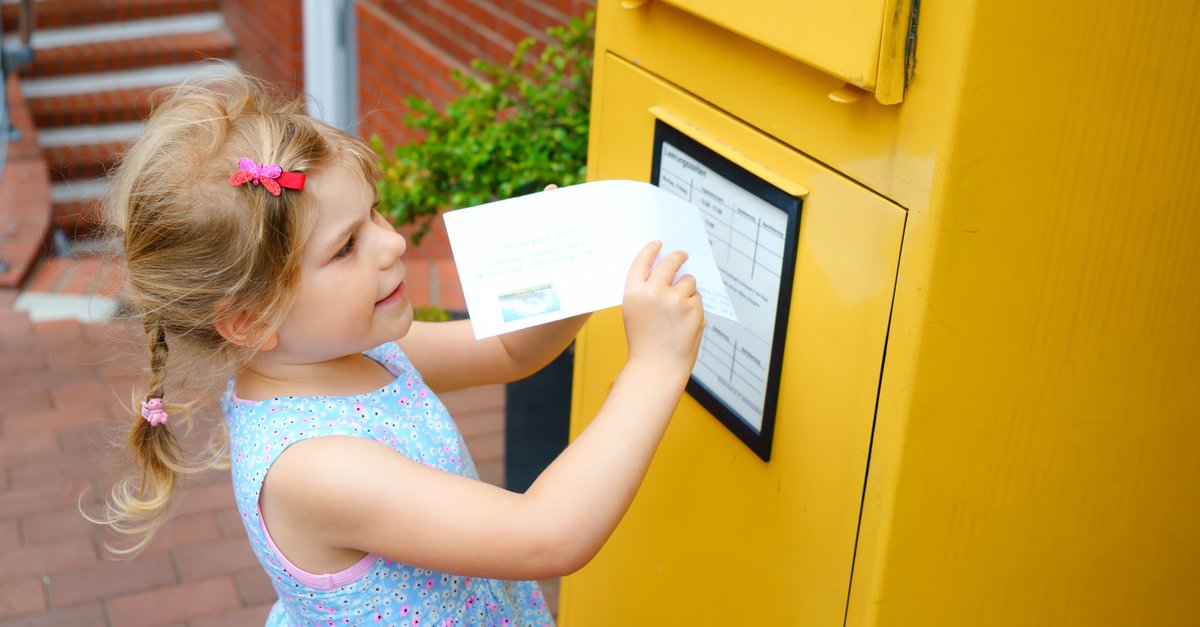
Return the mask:
M650 183L700 208L738 322L707 316L691 394L764 461L775 432L802 199L656 120Z

